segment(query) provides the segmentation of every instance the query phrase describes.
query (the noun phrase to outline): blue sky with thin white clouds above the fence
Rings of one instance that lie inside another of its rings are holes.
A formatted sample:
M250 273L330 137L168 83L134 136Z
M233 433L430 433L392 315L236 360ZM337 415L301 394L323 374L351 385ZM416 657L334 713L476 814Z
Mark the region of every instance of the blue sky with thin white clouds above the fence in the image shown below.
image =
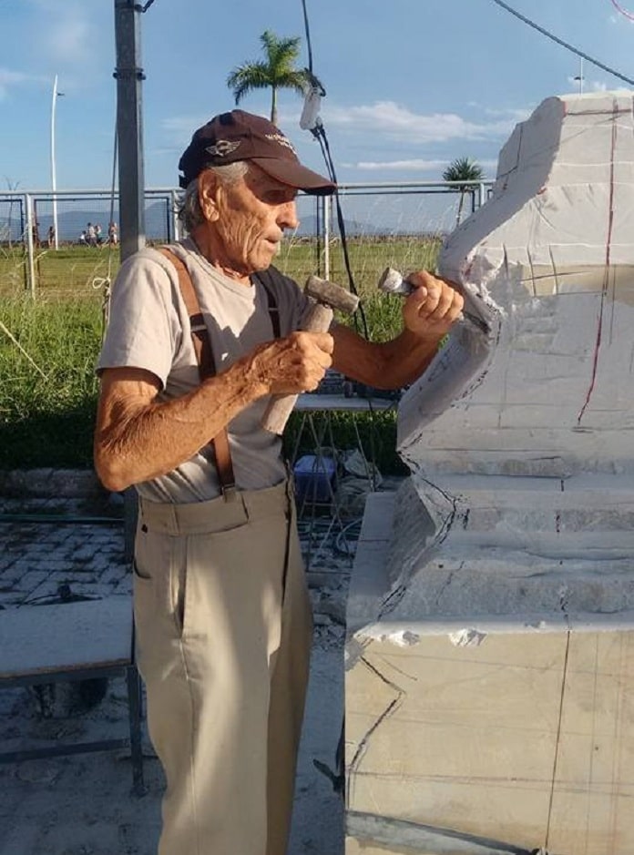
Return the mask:
M634 0L629 0L634 6ZM634 76L634 24L612 0L511 0L519 13ZM620 4L629 10L627 0ZM457 157L494 177L516 122L545 97L578 91L578 57L492 0L307 0L313 71L340 182L437 180ZM631 10L629 10L631 11ZM141 15L145 177L176 186L192 131L233 107L226 77L261 57L259 37L302 36L301 0L154 0ZM56 183L109 188L116 82L114 0L0 0L0 188L51 186L54 76ZM626 84L584 63L584 87ZM267 115L270 97L241 107ZM302 101L280 98L279 125L304 162L321 149L299 127Z

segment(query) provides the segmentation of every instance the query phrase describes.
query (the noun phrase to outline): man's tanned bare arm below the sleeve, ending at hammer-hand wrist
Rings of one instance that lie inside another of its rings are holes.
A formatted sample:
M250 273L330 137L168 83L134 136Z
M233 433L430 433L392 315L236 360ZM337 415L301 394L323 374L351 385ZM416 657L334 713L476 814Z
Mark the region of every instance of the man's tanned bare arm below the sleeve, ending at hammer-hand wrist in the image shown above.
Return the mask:
M108 489L119 491L169 473L267 392L268 386L239 363L167 402L148 401L137 382L118 382L114 390L102 391L99 404L97 474Z

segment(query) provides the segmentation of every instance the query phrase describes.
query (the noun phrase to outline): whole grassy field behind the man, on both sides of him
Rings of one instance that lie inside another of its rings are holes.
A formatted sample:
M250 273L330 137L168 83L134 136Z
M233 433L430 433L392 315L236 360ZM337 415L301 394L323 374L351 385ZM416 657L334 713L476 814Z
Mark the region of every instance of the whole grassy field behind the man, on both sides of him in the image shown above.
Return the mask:
M376 289L379 276L388 265L433 270L437 250L434 239L348 240L363 306L363 318L357 313L359 331L367 327L374 341L398 331L401 302ZM301 285L311 273L323 275L323 257L307 240L289 239L276 263ZM350 287L339 241L332 242L330 263L330 279ZM35 299L26 291L26 264L22 249L0 249L0 469L89 467L97 403L94 366L118 249L38 250ZM335 420L338 447L353 444L351 419L343 413ZM356 419L366 452L380 470L403 471L394 453L394 412ZM292 418L289 441L296 430Z

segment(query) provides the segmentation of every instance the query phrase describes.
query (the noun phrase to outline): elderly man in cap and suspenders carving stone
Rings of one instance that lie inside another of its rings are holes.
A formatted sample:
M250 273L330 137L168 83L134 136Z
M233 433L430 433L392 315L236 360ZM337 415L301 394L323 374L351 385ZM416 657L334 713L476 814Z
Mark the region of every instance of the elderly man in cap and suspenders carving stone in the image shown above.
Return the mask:
M180 158L189 237L124 262L98 362L97 473L134 484L134 604L149 735L165 769L160 855L283 855L312 618L271 394L325 370L412 382L462 309L429 273L373 344L300 331L308 303L271 261L298 190L332 193L266 119L200 127Z

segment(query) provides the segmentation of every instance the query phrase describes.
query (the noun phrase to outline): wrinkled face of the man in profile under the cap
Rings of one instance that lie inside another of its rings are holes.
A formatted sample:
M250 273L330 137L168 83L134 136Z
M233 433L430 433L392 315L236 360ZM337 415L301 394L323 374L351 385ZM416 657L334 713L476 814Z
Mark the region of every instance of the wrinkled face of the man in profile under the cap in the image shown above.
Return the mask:
M220 254L216 261L241 275L266 270L280 251L284 229L299 225L296 196L295 188L270 178L254 164L234 184L219 184L220 216L210 223Z

